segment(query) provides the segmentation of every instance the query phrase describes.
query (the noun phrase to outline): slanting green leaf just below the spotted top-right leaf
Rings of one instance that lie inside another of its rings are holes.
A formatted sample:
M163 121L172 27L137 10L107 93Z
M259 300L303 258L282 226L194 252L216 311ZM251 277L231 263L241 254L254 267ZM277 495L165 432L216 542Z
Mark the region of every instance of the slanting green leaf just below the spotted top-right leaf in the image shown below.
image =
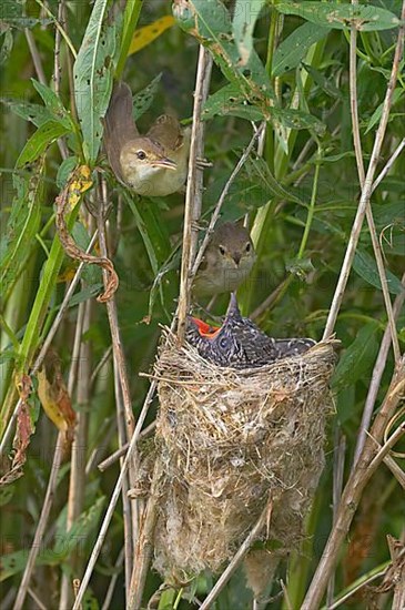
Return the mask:
M304 23L296 28L275 50L273 57L273 77L280 77L296 68L306 55L308 49L330 32L330 28Z

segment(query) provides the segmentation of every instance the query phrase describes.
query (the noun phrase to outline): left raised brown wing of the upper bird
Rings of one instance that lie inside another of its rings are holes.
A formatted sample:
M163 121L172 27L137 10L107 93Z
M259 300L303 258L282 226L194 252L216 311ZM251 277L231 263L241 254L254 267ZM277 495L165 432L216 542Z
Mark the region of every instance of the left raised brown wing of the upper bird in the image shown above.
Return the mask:
M132 115L132 93L126 83L114 84L103 124L104 146L109 163L117 177L123 181L120 165L121 150L126 142L139 136Z

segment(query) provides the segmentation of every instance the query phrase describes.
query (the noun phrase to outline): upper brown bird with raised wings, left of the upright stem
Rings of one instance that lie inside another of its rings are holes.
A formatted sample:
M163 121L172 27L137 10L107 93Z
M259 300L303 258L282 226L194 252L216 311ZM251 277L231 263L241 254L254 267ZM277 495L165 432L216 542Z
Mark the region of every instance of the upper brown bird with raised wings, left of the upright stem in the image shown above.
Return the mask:
M182 130L174 116L162 114L140 135L132 110L130 88L115 83L104 119L104 145L115 176L140 195L179 191L188 175L190 130Z

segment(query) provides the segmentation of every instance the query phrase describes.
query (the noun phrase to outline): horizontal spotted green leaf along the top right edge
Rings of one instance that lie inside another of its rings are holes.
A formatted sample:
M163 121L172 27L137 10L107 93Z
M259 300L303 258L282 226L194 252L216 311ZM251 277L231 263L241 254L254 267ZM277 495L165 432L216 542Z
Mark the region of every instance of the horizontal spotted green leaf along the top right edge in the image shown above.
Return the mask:
M317 26L337 30L350 29L354 24L356 30L366 32L389 30L401 24L393 12L373 6L284 1L276 7L284 14L297 14Z

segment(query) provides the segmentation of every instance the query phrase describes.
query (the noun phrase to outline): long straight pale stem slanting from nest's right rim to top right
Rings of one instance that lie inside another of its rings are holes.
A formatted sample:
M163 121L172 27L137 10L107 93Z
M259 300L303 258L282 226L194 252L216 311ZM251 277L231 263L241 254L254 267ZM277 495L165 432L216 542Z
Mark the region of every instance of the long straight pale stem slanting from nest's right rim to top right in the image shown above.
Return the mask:
M403 1L401 20L402 20L402 23L404 23L404 20L405 20L405 0ZM396 43L396 48L395 48L393 68L392 68L389 81L388 81L388 84L387 84L386 95L385 95L385 99L384 99L382 116L381 116L378 129L377 129L377 132L376 132L376 135L375 135L372 156L371 156L371 160L369 160L367 174L365 176L364 187L362 189L362 195L361 195L361 199L360 199L357 213L356 213L356 216L355 216L355 220L354 220L354 223L353 223L351 237L350 237L350 241L348 241L348 244L347 244L347 248L346 248L346 252L345 252L341 274L340 274L340 277L338 277L338 281L337 281L337 286L335 288L335 294L333 296L330 314L328 314L328 317L327 317L327 321L326 321L326 326L325 326L325 331L324 331L324 338L332 335L332 333L334 331L336 318L337 318L337 315L338 315L338 311L340 311L341 305L342 305L343 295L344 295L344 292L345 292L345 288L346 288L348 275L351 273L352 263L353 263L354 254L355 254L355 251L356 251L356 247L357 247L357 242L358 242L360 233L361 233L361 230L362 230L364 216L365 216L367 205L368 205L368 202L369 202L369 195L371 195L372 187L373 187L374 174L375 174L375 171L376 171L376 167L377 167L381 149L382 149L383 141L384 141L385 130L386 130L388 119L389 119L389 110L391 110L391 105L392 105L393 93L394 93L394 90L395 90L395 83L396 83L397 74L398 74L398 67L399 67L402 52L403 52L403 47L404 47L403 33L404 33L404 27L401 26L399 29L398 29L398 39L397 39L397 43Z

